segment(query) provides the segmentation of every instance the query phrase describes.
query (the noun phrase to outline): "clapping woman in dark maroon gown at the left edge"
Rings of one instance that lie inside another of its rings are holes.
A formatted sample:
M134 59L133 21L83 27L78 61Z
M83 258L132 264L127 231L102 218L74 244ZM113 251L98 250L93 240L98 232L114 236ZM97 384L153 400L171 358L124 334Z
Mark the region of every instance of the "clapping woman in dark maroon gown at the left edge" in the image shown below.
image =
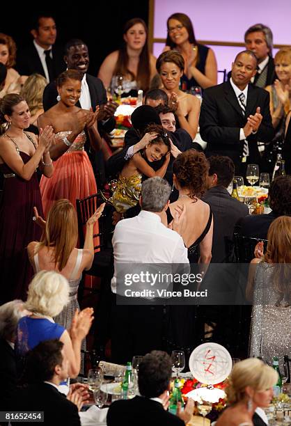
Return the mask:
M33 275L26 246L41 236L33 221L33 207L42 212L36 168L49 178L54 171L49 146L54 139L51 126L40 136L24 129L29 127L30 112L26 101L16 94L0 101L0 121L8 130L0 138L0 168L4 175L0 208L1 303L26 299Z

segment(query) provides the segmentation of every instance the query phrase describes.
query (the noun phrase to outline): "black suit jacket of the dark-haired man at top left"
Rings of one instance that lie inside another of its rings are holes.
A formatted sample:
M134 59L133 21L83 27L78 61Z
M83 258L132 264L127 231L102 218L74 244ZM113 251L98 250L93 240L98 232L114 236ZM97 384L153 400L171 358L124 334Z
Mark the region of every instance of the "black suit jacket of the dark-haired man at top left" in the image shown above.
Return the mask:
M52 62L54 66L54 77L56 78L58 74L61 74L61 72L66 69L65 61L63 60L63 49L61 47L56 45L52 46ZM45 71L42 68L40 56L33 42L17 51L15 68L20 75L31 75L36 72L45 77Z

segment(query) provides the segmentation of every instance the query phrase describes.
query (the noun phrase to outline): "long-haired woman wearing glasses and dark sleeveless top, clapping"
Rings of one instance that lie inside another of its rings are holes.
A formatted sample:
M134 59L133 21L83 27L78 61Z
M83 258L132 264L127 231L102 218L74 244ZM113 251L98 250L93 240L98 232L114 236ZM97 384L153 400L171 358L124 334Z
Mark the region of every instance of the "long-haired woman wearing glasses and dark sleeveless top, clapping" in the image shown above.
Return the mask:
M166 50L177 50L184 58L182 90L217 84L217 60L210 47L196 42L191 20L184 13L173 13L167 20Z

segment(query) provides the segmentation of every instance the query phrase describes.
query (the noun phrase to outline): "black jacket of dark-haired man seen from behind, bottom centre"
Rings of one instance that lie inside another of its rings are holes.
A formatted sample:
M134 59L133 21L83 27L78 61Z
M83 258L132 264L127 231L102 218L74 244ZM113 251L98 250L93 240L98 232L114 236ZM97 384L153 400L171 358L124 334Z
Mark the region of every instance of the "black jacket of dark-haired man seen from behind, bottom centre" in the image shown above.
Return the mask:
M162 404L146 397L113 402L107 413L107 426L183 426L184 422Z

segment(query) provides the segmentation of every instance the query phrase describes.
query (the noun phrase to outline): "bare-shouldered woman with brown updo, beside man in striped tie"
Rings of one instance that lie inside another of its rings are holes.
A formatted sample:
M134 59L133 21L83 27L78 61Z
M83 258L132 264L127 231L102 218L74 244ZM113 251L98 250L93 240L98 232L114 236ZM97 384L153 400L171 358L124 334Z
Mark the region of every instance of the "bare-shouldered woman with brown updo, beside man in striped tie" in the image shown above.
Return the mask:
M168 95L169 105L178 116L180 127L194 139L198 129L200 102L198 97L180 90L180 78L184 71L183 56L173 50L164 52L157 58L156 68Z

